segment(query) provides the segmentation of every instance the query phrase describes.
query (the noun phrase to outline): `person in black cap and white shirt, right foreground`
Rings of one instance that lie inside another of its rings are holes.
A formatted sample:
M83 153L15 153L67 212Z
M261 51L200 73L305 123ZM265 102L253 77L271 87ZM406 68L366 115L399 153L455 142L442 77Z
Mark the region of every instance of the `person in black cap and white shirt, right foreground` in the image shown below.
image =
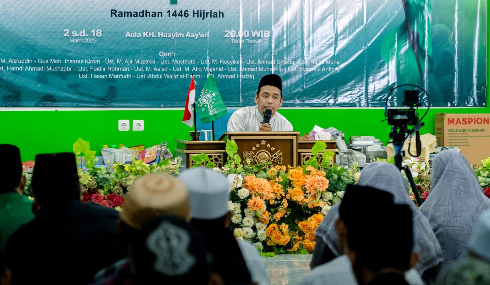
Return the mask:
M383 207L370 207L366 200L372 197L376 197ZM349 185L342 203L336 204L334 207L339 210L337 211L339 215L335 219L334 230L338 233L340 250L343 255L313 268L302 280L302 285L320 285L324 284L325 280L328 280L328 284L332 285L364 285L368 284L372 278L385 272L395 272L397 274L394 277L398 283L392 284L407 284L407 282L412 285L423 284L415 270L407 271L413 265L409 266L412 258L413 238L411 234L412 212L408 206L401 206L407 207L407 209L402 209L401 211L403 213L407 212L408 217L406 219L400 218L402 220L395 226L397 231L388 234L396 235L396 239L386 242L387 233L385 231L392 229L392 220L387 219L389 217L398 218L394 214L398 215L399 213L398 209L393 208L393 196L390 193L371 187ZM363 215L360 216L359 213L363 213ZM403 222L403 220L406 220L406 222ZM370 229L367 229L367 227L370 227ZM386 230L383 230L383 228L386 228ZM405 234L406 237L404 237ZM398 240L399 235L402 236L400 240ZM381 246L373 246L377 242L368 244L368 241L377 240L383 240L383 244ZM406 244L402 244L402 240L406 241ZM396 246L393 246L393 243ZM317 250L317 247L315 247L315 250ZM376 253L366 252L368 250ZM393 258L393 256L396 258ZM415 264L417 255L414 254L413 257L413 263Z

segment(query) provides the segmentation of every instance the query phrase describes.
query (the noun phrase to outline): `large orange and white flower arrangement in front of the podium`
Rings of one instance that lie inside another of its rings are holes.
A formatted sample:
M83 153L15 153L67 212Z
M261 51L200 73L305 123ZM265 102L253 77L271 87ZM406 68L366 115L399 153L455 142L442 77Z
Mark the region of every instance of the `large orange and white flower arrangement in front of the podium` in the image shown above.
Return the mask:
M270 163L243 165L235 142L227 141L226 145L228 162L215 170L228 177L234 236L252 242L264 256L311 253L315 230L331 205L342 199L357 168L331 165L333 153L328 151L321 155L319 164L324 142L313 148L315 157L295 168Z

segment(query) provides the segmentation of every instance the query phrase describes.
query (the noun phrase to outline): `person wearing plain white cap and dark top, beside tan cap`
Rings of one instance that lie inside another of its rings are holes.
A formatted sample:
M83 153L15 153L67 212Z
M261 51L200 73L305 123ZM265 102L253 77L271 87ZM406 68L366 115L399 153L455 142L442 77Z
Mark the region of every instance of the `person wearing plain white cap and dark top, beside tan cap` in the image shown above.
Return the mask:
M213 268L221 275L224 283L269 284L263 262L254 258L259 255L258 251L255 248L241 251L228 228L232 213L227 206L230 198L226 177L209 168L193 168L184 171L179 178L187 184L189 190L191 224L204 237L206 246L213 254Z

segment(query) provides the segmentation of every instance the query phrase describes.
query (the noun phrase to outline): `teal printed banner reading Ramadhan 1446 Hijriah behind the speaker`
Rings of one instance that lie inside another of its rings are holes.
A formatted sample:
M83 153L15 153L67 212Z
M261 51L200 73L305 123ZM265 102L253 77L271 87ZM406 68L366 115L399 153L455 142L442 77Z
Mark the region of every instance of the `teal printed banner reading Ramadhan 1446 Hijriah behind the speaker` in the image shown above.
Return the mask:
M262 76L285 107L486 107L487 1L2 0L3 107L184 107L210 72L226 107ZM401 106L403 88L390 98ZM420 94L424 106L427 94Z

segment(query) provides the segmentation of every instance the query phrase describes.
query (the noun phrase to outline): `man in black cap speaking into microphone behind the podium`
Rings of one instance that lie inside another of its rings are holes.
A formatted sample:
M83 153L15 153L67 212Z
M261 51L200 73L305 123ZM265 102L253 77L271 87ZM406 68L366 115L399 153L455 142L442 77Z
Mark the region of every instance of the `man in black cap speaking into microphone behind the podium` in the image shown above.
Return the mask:
M277 112L282 100L281 77L277 74L262 77L255 94L257 105L236 110L228 121L227 131L292 132L293 125Z

